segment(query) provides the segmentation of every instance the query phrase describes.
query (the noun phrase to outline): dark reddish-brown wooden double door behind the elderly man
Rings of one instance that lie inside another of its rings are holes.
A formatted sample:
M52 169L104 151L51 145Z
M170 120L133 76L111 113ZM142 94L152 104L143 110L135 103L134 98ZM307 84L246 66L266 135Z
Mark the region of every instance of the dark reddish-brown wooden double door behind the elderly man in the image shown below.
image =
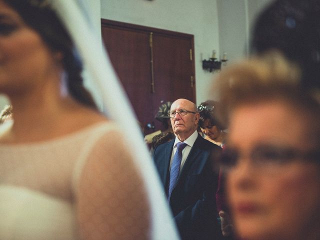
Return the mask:
M106 19L101 23L103 43L145 133L161 129L154 119L161 102L195 101L193 35Z

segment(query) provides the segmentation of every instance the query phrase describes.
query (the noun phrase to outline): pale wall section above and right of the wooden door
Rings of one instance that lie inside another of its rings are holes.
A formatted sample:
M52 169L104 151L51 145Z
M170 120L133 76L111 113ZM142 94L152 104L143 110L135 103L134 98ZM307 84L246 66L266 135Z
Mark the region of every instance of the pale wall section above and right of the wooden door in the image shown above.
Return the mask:
M101 17L194 35L196 101L206 100L213 73L202 58L219 53L216 0L101 0Z

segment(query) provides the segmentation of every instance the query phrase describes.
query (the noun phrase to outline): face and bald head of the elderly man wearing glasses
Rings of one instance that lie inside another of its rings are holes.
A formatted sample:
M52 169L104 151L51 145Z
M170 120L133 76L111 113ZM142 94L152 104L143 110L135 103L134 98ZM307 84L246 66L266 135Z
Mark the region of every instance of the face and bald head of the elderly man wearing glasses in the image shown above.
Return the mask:
M177 99L174 101L171 105L170 112L171 111L178 111L181 109L185 109L188 111L196 111L194 109L194 104L186 99ZM197 128L197 123L199 120L199 113L191 113L188 112L186 115L179 115L176 113L173 118L170 119L172 129L175 135L180 137L182 140L185 140L188 138L194 130Z

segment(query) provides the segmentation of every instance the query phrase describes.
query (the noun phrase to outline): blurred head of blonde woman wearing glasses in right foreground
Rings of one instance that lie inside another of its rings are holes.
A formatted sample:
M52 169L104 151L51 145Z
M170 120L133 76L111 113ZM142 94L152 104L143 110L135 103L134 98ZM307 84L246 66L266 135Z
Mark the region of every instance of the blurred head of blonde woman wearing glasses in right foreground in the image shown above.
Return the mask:
M221 168L243 239L320 235L319 89L302 88L300 79L277 53L231 66L217 79L220 117L229 123Z

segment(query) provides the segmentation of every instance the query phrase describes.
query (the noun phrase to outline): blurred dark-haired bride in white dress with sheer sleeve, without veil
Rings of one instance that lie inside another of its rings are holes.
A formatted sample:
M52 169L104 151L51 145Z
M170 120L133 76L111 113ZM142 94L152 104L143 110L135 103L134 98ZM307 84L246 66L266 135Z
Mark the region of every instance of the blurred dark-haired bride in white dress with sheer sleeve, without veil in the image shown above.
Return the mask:
M0 239L153 239L161 221L175 239L81 71L48 1L0 0L0 93L14 109L0 128Z

